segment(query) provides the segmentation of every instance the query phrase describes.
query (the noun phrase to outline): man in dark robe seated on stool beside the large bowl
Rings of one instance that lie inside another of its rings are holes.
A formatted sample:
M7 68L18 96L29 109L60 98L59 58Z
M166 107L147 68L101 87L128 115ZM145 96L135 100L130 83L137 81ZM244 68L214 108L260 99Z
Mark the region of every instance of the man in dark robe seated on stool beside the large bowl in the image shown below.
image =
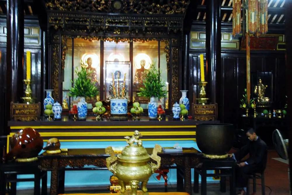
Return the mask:
M228 154L233 157L237 163L235 182L238 194L244 195L248 185L248 176L255 173L262 173L267 164L267 144L256 135L253 129L248 129L246 136L248 143L234 154ZM249 158L242 161L247 154Z

